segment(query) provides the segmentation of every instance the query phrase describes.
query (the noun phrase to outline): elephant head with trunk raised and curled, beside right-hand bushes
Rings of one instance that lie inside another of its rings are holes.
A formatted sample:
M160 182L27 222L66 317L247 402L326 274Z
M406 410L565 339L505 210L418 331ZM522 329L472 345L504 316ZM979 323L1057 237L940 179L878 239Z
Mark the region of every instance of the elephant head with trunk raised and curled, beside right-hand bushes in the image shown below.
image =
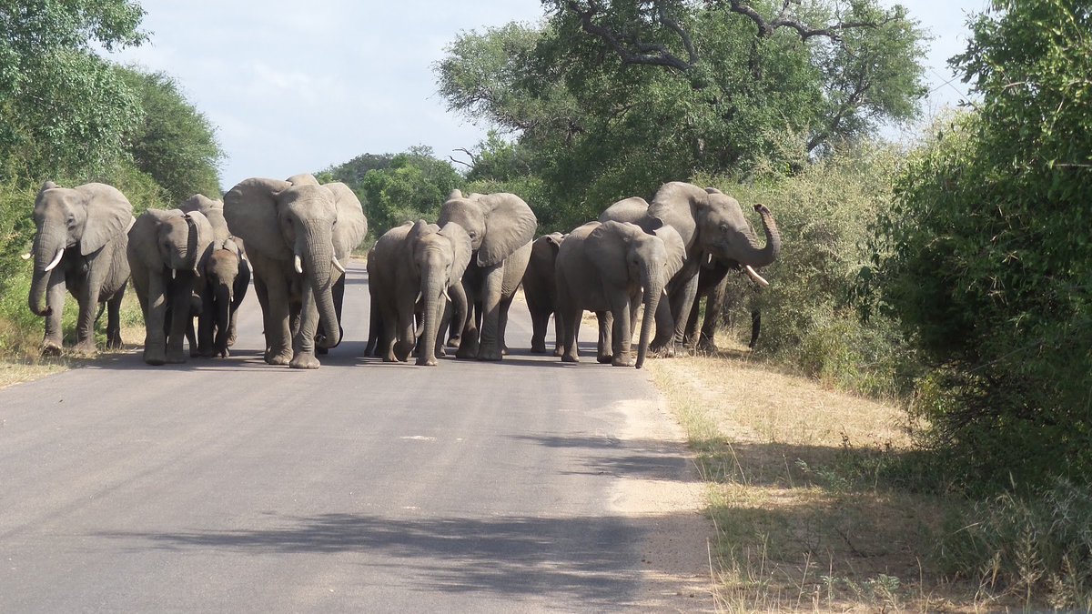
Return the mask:
M722 261L758 269L776 260L781 234L769 209L755 205L755 210L762 217L764 246L759 244L739 201L716 188L702 189L679 181L664 184L649 205L649 216L675 227L690 257L698 256L700 250Z

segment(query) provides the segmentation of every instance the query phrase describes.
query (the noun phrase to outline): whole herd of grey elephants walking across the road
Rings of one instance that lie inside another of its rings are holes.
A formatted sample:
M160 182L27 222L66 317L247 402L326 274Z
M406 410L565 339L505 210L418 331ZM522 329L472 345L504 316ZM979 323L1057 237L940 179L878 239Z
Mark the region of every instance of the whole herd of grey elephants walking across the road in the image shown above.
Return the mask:
M781 237L769 210L755 210L764 245L734 198L674 181L651 202L629 198L598 221L535 239L537 220L518 196L454 190L436 223L407 222L369 251L366 354L387 362L415 355L417 365L436 365L453 346L460 358L502 359L508 310L522 285L534 328L532 352L547 351L554 315L555 355L578 362L577 331L590 310L600 322L597 361L640 368L650 350L676 352L688 321L692 334L700 284L734 269L767 283L756 269L776 259ZM46 318L44 352L61 351L66 291L80 305L73 350L95 352L100 304L107 344L120 347L120 305L131 279L144 316L143 358L151 365L186 362L183 339L190 356L227 356L252 278L265 362L318 368L318 356L343 336L342 262L368 232L353 191L311 175L245 179L222 201L195 194L178 209L147 210L135 219L110 186L47 181L34 222L34 246L25 257L34 258L28 304ZM653 316L642 320L634 361L640 307Z

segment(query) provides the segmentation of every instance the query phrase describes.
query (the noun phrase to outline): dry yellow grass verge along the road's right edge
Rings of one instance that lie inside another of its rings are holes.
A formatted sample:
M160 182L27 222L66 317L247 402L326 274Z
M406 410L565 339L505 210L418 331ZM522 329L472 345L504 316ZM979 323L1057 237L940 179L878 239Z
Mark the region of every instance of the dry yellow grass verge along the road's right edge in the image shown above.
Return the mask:
M881 468L911 444L899 408L776 373L746 350L649 366L710 485L721 610L986 607L923 566L946 504L885 483Z

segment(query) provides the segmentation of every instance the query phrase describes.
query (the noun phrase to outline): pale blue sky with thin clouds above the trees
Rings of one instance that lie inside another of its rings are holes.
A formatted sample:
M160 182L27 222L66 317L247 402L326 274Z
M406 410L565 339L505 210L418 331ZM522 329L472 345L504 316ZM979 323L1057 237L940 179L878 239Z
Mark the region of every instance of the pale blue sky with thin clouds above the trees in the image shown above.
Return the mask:
M946 60L988 0L906 1L934 40L926 115L966 92ZM286 178L363 153L431 146L465 160L487 126L448 111L432 64L460 32L537 23L538 0L142 0L150 40L111 55L164 71L216 128L221 185Z

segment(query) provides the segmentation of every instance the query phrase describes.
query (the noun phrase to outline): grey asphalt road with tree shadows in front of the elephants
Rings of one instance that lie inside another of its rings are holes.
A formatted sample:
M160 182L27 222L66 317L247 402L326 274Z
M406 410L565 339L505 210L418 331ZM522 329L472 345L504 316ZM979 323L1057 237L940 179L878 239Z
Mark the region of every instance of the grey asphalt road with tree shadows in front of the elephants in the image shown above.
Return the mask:
M646 375L531 355L517 306L501 363L364 358L354 264L318 370L261 361L248 296L230 358L0 390L0 612L665 609L648 541L673 517L610 500L688 472L620 435Z

